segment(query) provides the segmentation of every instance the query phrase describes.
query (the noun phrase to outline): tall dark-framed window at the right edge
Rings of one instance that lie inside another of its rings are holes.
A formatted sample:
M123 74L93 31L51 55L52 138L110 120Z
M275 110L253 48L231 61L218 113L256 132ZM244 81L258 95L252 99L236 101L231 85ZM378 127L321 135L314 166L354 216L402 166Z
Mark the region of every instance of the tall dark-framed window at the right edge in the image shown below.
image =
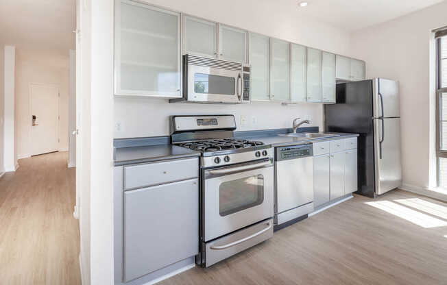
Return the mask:
M437 169L438 186L447 188L447 30L437 32Z

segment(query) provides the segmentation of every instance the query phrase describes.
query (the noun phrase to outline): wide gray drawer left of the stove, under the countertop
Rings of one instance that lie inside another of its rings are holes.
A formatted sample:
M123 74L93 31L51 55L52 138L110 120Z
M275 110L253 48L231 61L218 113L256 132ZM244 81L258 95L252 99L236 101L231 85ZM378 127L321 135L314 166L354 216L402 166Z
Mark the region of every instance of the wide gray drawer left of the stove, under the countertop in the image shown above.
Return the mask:
M169 160L124 167L124 188L132 189L195 178L199 175L198 158Z

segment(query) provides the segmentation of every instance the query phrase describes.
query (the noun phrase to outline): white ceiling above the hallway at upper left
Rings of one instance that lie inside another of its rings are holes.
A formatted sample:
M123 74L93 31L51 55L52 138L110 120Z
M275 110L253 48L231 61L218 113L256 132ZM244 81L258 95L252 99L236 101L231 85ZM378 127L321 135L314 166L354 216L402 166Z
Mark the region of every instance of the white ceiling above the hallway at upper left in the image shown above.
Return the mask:
M75 48L75 0L1 0L0 42L68 56Z

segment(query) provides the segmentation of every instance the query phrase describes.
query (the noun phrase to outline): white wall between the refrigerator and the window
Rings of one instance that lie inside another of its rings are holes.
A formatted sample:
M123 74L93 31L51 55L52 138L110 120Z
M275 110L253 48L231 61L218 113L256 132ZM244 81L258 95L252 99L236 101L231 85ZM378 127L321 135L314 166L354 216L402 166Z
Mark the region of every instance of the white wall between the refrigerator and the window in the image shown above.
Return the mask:
M367 62L368 77L400 82L403 183L435 186L435 47L431 30L447 25L447 2L354 32L351 54Z

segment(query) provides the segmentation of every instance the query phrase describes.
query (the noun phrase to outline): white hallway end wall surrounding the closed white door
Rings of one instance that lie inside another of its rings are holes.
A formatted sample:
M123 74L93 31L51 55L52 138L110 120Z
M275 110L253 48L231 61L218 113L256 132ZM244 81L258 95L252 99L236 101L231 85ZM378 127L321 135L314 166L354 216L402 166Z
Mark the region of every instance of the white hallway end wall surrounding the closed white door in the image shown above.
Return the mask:
M29 84L56 84L60 87L59 150L69 147L69 55L34 49L16 50L16 142L19 158L31 153Z

